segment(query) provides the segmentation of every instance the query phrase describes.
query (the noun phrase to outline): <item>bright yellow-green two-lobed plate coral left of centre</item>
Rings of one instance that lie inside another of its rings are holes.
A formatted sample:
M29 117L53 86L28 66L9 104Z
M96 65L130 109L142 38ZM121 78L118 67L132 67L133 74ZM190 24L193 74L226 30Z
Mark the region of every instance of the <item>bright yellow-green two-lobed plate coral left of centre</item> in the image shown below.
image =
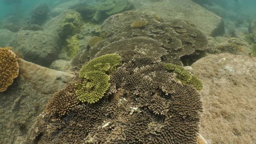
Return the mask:
M84 81L78 84L76 95L82 102L95 103L104 96L108 90L112 71L121 64L118 54L106 54L89 61L82 66L79 77Z

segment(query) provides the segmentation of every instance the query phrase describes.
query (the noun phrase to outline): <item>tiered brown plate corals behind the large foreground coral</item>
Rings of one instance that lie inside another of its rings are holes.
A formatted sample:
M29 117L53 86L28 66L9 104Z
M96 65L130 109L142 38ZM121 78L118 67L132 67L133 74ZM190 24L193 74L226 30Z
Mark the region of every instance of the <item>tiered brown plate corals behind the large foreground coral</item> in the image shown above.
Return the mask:
M108 19L106 21L112 22ZM109 23L109 25L115 24ZM155 52L154 48L156 48ZM132 54L128 52L129 50L133 53L136 51L140 55L148 54L156 59L161 58L163 62L182 65L182 57L186 56L183 58L186 60L183 61L196 60L196 55L200 55L206 49L208 49L208 41L202 32L184 20L175 19L169 22L148 22L143 29L131 28L130 25L126 25L112 37L93 46L90 49L89 57L94 58L94 55L97 57L108 53L125 56L122 53ZM192 59L192 55L194 55L194 59ZM133 56L127 57L131 59Z

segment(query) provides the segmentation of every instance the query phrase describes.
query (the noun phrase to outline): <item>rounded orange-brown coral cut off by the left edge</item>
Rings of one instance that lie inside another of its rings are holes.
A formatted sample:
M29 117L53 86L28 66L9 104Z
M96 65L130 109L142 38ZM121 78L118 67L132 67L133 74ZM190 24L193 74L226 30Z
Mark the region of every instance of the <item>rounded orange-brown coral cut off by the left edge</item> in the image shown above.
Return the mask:
M0 48L0 92L6 91L19 75L18 58L11 49Z

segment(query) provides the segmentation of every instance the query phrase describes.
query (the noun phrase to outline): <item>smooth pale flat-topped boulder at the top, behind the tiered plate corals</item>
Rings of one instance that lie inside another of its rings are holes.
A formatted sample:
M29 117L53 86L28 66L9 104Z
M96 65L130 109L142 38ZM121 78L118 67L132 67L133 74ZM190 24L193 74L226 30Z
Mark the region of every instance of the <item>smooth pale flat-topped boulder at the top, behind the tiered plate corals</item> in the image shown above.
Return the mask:
M222 18L191 0L132 1L136 8L158 14L166 20L174 18L187 20L208 36L218 36L225 32Z

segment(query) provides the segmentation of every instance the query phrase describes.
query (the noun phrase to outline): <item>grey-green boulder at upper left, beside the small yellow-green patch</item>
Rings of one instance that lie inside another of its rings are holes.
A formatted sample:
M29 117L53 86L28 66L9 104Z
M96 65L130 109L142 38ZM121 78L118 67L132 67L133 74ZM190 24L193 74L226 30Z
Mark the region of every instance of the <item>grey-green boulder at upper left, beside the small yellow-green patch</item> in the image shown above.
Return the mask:
M10 45L25 60L50 66L60 53L62 41L79 32L81 26L80 14L74 10L66 10L48 21L43 31L20 30Z

